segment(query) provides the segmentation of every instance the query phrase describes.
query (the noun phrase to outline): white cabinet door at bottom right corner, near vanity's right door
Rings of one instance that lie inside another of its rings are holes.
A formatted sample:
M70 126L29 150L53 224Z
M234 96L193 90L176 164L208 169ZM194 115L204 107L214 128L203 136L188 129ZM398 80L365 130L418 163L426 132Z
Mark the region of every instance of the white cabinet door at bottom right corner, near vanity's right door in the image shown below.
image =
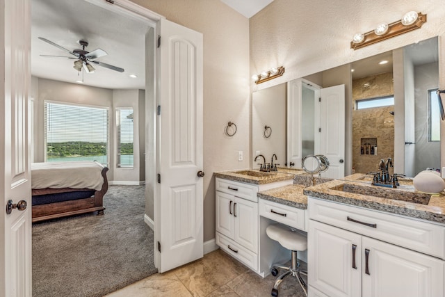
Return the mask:
M444 296L444 261L365 236L362 246L363 297Z

